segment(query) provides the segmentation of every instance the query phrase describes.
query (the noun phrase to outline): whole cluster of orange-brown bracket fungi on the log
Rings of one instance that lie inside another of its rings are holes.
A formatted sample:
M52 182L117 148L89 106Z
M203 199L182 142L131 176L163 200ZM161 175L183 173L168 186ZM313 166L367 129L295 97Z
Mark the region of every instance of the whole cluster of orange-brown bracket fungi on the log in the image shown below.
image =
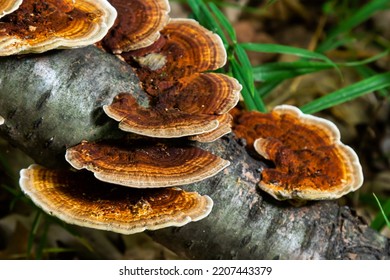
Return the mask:
M169 10L167 0L0 1L0 55L95 44L130 64L149 97L143 106L131 93L118 93L102 108L128 132L125 139L68 147L69 170L21 171L22 190L46 212L124 234L182 226L210 213L210 197L178 186L229 165L191 141L212 142L232 131L229 111L241 85L210 72L226 63L221 39L194 20L169 18ZM235 133L275 163L263 170L260 187L277 199L337 198L362 184L357 156L337 128L295 107L243 115ZM297 150L298 142L307 145Z

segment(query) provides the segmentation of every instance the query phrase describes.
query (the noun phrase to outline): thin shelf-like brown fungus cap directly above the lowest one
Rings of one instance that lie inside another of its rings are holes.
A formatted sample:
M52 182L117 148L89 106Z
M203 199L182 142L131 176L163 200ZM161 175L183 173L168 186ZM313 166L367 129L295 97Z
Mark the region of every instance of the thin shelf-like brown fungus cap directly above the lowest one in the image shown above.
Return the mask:
M86 168L102 181L135 188L190 184L229 165L229 161L185 144L123 141L83 142L69 148L65 158L74 168Z

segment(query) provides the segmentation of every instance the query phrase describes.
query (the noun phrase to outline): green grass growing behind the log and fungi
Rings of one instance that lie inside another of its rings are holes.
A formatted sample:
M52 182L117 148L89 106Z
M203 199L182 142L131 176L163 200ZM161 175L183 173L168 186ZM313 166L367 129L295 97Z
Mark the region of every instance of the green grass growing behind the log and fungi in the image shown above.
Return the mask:
M276 2L268 1L268 6ZM376 12L390 9L388 0L372 0L364 5L351 2L354 1L329 0L325 2L322 7L324 15L337 17L339 21L324 34L325 39L319 42L315 50L311 51L280 44L240 43L237 41L232 24L220 10L220 7L226 7L226 1L187 1L191 7L192 16L222 38L228 53L228 63L223 71L235 77L243 85L242 97L246 110L267 112L266 100L272 97L275 88L301 75L333 69L343 80L341 69L349 68L358 73L360 81L347 84L301 105L300 109L310 114L373 92L384 100L388 100L390 96L390 73L377 73L375 68L370 67L373 62L389 56L390 42L380 40L377 45L382 51L363 60L334 62L327 56L328 53L340 48L353 51L353 42L359 39L354 32L355 29L371 19ZM255 13L254 11L247 12ZM248 51L288 54L295 56L296 60L252 65L248 58ZM383 208L377 197L375 199L380 206L380 212L374 218L372 227L381 230L385 225L389 226L387 216L390 215L390 199L383 201Z

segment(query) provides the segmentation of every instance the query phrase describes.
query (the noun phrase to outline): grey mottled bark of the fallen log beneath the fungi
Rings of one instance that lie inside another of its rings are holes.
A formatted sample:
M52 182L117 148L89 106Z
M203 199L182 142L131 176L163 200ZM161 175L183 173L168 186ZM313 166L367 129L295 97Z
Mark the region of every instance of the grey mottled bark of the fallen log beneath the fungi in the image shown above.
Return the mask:
M131 68L94 47L0 59L0 135L48 167L65 148L123 133L103 104L132 91L147 106ZM220 174L183 186L215 202L204 220L150 232L193 259L389 259L389 240L335 201L293 207L259 191L260 163L232 135L198 144L230 160Z

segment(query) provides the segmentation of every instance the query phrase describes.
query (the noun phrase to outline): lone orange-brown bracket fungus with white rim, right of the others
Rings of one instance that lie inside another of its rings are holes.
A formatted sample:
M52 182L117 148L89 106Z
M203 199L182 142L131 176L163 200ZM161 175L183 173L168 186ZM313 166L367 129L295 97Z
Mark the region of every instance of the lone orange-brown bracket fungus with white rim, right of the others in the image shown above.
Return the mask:
M278 200L336 199L363 183L356 153L328 120L281 105L268 114L244 114L235 131L249 143L256 138L255 150L275 165L262 170L259 186Z

